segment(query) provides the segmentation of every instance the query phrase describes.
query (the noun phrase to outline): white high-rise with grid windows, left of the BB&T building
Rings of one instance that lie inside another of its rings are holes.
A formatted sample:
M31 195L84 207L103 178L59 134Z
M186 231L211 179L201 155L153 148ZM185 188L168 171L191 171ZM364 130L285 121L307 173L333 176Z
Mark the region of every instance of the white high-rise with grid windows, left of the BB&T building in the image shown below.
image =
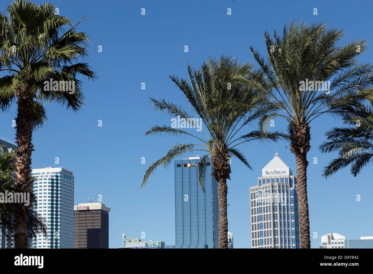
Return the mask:
M48 237L38 234L32 248L74 247L74 176L62 167L33 169L38 213L46 218Z

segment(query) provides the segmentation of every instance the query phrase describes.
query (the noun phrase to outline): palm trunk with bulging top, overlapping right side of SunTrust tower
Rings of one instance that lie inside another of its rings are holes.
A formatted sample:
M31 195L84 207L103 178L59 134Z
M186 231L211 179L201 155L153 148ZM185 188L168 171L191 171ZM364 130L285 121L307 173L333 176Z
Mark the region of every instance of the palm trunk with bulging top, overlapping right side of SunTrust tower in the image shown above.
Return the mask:
M290 150L297 165L297 193L301 248L311 248L307 199L307 152L310 150L310 127L306 123L291 125Z

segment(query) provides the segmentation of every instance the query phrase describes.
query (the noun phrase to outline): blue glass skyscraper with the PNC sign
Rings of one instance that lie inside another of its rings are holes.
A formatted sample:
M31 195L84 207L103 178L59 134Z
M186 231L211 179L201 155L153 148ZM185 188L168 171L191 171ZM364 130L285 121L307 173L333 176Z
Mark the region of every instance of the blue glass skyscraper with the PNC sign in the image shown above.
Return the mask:
M217 181L206 167L205 192L198 180L200 157L175 161L176 245L167 248L218 248Z

